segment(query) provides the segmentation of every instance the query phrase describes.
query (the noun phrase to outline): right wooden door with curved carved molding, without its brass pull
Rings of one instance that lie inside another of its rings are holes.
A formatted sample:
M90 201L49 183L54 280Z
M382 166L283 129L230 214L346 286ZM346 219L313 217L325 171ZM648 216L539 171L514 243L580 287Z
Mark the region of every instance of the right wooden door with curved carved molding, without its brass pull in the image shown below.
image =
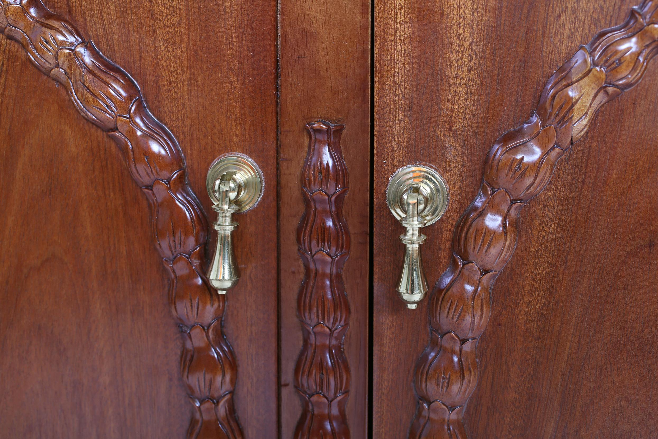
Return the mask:
M377 3L373 437L657 436L657 9ZM384 191L418 161L450 199L409 310Z

